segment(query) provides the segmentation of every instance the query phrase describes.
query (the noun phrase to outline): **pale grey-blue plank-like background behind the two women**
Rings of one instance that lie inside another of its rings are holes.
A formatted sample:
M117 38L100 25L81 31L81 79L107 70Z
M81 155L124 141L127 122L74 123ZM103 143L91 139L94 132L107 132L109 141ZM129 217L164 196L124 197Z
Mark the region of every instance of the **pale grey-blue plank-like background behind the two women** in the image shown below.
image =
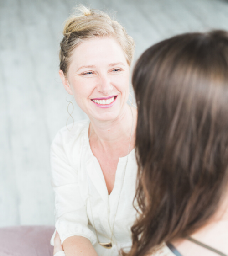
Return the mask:
M81 0L116 11L135 59L172 35L228 30L227 0ZM58 77L62 24L73 0L0 0L0 226L54 224L49 147L67 120ZM74 120L86 115L74 104Z

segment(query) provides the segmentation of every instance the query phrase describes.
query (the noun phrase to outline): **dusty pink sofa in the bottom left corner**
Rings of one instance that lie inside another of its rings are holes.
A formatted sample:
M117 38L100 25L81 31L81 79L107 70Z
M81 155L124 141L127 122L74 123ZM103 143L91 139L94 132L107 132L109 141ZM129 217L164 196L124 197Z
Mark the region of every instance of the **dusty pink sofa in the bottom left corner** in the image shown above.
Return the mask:
M0 228L0 256L52 256L52 226Z

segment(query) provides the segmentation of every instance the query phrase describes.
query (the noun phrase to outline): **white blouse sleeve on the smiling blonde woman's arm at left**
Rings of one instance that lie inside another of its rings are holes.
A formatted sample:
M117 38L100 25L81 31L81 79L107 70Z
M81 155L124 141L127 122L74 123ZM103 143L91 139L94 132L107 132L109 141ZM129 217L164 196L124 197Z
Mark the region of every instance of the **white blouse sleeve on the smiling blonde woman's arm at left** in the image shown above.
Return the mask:
M97 238L88 228L86 206L79 191L77 168L70 165L67 150L63 136L58 133L52 142L50 156L52 187L55 193L55 226L62 243L68 237L78 235L88 238L95 244ZM51 245L53 238L54 235Z

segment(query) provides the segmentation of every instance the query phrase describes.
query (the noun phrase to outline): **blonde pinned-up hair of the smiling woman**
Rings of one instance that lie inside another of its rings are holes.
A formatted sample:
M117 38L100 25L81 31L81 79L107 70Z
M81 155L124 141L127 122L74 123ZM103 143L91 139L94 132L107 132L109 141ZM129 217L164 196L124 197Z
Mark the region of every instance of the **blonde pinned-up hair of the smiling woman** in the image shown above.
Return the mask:
M125 28L103 11L89 9L83 5L76 8L76 13L70 16L63 29L60 43L60 69L64 75L70 64L73 49L85 40L95 37L114 37L123 49L127 63L132 63L135 42Z

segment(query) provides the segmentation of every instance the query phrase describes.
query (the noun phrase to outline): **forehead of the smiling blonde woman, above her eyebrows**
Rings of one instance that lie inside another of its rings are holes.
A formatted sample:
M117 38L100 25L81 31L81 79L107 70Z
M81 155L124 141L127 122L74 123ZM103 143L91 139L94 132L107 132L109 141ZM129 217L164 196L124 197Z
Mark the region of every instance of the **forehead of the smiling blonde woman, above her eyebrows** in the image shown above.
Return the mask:
M80 43L74 50L70 66L108 65L127 60L119 43L112 37L94 38Z

